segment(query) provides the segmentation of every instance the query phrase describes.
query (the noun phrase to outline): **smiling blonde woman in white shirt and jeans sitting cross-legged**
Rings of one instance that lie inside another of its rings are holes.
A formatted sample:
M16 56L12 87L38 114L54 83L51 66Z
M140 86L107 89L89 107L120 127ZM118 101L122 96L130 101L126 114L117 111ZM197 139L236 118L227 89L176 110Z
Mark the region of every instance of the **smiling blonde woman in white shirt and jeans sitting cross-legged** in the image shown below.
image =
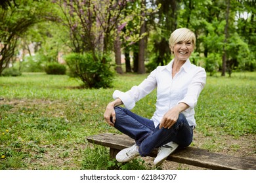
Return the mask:
M158 166L178 146L183 148L192 142L196 127L194 107L205 86L206 73L188 59L196 46L192 31L176 29L171 33L169 46L174 59L168 65L157 67L139 86L133 86L127 92L116 90L114 101L106 107L106 122L135 139L133 146L116 155L119 162L148 156L154 148L159 148L154 159L154 165ZM155 88L156 111L150 120L130 111L137 101Z

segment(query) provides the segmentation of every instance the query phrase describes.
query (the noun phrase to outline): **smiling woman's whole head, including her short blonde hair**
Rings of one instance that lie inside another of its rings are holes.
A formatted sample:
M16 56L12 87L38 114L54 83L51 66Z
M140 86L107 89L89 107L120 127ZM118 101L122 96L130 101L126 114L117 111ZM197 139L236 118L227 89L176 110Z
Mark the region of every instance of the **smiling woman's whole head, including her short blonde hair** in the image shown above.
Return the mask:
M171 33L169 46L175 59L185 61L190 57L196 46L196 36L190 29L176 29Z

